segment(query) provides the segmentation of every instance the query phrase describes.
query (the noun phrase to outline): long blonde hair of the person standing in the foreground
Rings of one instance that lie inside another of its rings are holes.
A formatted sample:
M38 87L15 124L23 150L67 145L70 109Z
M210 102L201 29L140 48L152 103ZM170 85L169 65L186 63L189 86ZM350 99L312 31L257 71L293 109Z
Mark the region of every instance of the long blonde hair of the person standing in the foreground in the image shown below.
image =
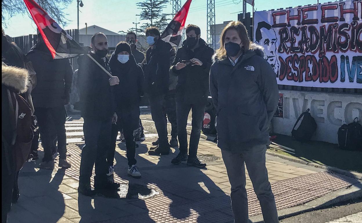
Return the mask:
M226 35L226 32L231 29L236 30L237 33L239 34L241 42L244 45L244 51L247 52L250 48L251 42L249 40L247 28L240 21L231 21L225 26L225 28L223 29L223 31L220 35L220 42L219 42L220 48L218 50L216 50L216 53L215 53L216 58L218 60L222 60L222 59L226 58L225 35Z

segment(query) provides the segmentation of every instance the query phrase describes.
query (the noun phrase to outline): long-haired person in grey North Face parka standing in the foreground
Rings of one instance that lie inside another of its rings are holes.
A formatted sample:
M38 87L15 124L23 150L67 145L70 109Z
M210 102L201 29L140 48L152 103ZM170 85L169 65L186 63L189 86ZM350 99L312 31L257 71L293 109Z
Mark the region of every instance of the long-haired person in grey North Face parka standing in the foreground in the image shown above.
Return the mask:
M235 223L249 222L245 165L264 222L277 223L265 152L270 143L268 127L278 105L278 85L273 68L264 59L264 48L250 42L239 21L230 22L222 31L210 70L210 93Z

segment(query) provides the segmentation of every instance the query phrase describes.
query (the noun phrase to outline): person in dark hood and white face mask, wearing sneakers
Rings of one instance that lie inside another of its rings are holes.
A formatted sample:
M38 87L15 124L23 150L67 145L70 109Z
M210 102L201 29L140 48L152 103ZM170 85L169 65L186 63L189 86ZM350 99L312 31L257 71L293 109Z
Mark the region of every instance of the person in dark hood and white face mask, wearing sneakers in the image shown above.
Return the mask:
M126 42L119 42L110 58L109 66L112 75L119 78L119 85L114 86L117 123L112 126L111 146L107 155L109 173L113 173L113 160L115 151L115 142L118 130L123 129L126 140L128 174L132 177L141 177L138 171L135 159L136 143L134 139L134 130L139 124L139 105L140 98L143 96L143 70L136 63L131 52L131 47Z

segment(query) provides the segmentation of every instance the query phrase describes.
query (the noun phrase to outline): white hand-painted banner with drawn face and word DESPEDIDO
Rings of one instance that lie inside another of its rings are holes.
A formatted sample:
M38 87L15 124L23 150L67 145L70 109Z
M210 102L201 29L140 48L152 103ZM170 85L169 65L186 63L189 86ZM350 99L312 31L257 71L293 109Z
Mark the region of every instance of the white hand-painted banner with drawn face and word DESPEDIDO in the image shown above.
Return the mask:
M362 0L254 13L280 85L362 88Z

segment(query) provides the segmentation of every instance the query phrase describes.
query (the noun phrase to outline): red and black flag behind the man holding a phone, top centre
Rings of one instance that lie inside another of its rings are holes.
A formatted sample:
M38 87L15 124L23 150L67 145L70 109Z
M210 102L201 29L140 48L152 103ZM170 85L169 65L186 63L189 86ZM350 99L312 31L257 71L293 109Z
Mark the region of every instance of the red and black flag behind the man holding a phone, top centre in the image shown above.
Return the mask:
M186 17L192 0L187 0L184 6L178 11L173 20L168 24L167 28L161 35L161 39L168 42L173 47L180 46L182 39L182 30L185 27Z

